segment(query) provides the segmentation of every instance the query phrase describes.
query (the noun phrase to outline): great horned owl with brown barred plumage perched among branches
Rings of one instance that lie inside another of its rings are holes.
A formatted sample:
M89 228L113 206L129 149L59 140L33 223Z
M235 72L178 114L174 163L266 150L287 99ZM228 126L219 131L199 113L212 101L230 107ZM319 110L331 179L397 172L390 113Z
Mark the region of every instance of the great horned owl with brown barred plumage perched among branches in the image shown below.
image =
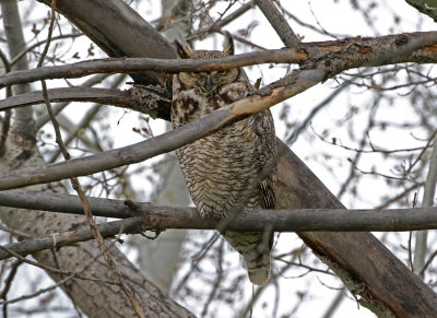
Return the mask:
M234 42L225 33L223 51L192 50L175 43L181 59L231 56ZM243 69L180 72L173 80L172 125L177 128L244 98L253 87ZM202 217L275 208L275 133L270 110L237 121L176 151L191 199ZM224 231L243 256L249 279L264 284L270 274L271 232Z

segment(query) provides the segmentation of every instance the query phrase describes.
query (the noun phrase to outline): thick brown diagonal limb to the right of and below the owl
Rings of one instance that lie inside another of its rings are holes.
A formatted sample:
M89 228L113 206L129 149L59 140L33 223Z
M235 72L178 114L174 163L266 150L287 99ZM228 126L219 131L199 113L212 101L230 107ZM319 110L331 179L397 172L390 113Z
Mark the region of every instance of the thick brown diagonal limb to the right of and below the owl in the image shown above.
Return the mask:
M285 144L280 143L279 150L280 209L344 209ZM370 233L297 234L334 271L359 304L379 317L435 315L437 299L434 291Z

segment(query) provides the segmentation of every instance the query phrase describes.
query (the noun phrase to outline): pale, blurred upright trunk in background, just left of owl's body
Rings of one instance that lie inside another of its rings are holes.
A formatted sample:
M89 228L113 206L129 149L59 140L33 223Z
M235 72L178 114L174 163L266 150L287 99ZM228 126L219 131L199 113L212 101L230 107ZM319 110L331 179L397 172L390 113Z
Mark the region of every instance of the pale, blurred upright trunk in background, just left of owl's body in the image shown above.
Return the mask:
M162 28L165 37L172 42L185 37L191 28L189 16L192 1L163 0ZM165 23L170 20L168 25ZM177 21L175 23L175 21ZM172 127L167 122L166 130ZM158 169L161 187L153 202L163 205L188 207L190 196L184 180L182 173L174 153L167 154ZM187 231L167 229L154 240L145 240L141 236L134 237L139 249L140 270L152 283L165 294L169 294L174 275L179 263L180 248L186 239Z

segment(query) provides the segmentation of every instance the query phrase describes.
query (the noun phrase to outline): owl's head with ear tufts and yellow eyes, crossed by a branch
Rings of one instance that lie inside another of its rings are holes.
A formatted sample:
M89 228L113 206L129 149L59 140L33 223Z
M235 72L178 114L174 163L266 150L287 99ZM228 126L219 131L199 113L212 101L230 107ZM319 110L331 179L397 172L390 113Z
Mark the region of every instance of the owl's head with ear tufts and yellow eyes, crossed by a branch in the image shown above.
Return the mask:
M234 40L228 32L224 33L223 50L193 50L187 44L175 40L177 55L180 59L214 59L234 55ZM234 82L239 75L239 69L218 70L211 72L180 72L178 79L185 90L196 90L203 95L212 95L221 87Z

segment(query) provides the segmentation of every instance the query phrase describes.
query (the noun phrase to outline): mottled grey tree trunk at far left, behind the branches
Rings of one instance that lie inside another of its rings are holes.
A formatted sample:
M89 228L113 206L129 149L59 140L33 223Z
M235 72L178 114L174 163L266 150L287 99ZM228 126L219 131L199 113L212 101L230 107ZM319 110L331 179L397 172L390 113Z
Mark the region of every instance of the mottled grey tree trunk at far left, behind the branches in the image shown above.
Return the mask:
M4 19L4 30L8 36L10 56L13 58L25 44L22 25L15 0L2 0L1 10ZM17 68L26 69L23 58ZM15 93L24 93L26 85L15 86ZM15 120L9 132L4 152L0 161L0 170L7 172L25 166L44 164L35 145L35 130L31 107L16 111ZM59 185L35 186L33 190L44 191L56 188L63 191ZM58 213L35 212L29 217L28 211L2 208L0 217L10 228L20 229L33 236L48 235L54 228L69 229L85 226L84 216L62 215ZM109 246L108 246L109 247ZM116 247L109 249L127 284L140 299L140 304L147 317L190 317L184 307L166 297L152 283L146 281L135 267ZM56 255L56 259L54 258ZM75 247L60 248L59 250L36 252L33 257L44 264L57 267L63 271L84 271L90 276L113 280L110 269L101 259L96 244L88 242ZM94 261L96 259L96 261ZM49 273L55 281L64 279L61 275ZM104 283L70 280L61 285L73 303L88 317L133 317L134 311L119 286Z

